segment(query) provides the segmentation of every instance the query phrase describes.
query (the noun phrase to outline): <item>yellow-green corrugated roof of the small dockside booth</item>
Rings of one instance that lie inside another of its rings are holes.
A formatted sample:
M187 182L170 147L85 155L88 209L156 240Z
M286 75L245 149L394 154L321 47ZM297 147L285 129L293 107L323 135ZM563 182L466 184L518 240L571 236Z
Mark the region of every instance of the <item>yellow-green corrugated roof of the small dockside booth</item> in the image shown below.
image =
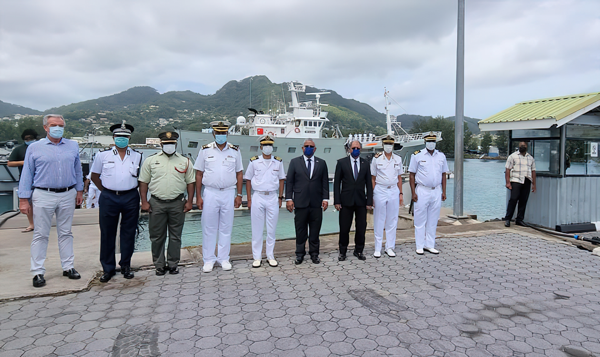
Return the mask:
M600 101L600 92L524 101L484 120L479 120L479 123L519 122L536 119L560 120L596 101Z

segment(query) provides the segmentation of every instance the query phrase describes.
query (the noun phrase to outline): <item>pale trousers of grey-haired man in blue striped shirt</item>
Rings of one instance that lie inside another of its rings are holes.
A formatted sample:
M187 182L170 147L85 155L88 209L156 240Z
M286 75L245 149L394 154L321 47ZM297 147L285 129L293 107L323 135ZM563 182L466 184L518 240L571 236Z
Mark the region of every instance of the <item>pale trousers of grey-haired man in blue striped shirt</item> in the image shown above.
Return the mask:
M34 238L31 241L31 274L46 274L44 262L48 249L48 237L52 228L52 216L56 216L58 252L61 255L62 271L73 268L73 213L75 212L75 189L66 192L48 192L34 189L31 195L34 210Z

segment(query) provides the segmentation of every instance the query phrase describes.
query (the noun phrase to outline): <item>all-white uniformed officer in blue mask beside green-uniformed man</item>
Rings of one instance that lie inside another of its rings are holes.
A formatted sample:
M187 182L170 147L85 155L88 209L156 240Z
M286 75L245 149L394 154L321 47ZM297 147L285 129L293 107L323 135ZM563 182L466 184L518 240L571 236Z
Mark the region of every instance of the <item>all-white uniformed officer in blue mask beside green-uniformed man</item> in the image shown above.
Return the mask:
M196 171L196 204L202 210L203 271L212 271L215 262L223 270L231 270L229 249L233 228L233 209L242 205L242 155L237 145L227 143L231 125L225 120L211 122L210 144L202 146L194 168ZM202 185L205 186L202 196ZM237 193L236 193L237 189ZM217 233L219 235L217 255Z

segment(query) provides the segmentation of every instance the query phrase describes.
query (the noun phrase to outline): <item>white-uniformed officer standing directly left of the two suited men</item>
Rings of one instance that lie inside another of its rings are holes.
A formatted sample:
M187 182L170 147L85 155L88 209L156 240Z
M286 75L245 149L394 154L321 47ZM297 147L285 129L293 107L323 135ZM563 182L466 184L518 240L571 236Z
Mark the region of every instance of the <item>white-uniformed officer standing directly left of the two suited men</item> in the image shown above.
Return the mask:
M272 156L275 141L269 135L260 138L262 155L254 156L246 168L246 193L248 208L252 220L252 256L253 268L262 262L263 229L266 221L266 259L271 267L277 267L273 255L275 247L275 229L279 217L279 207L283 199L283 180L286 173L283 161ZM254 192L250 195L250 192Z

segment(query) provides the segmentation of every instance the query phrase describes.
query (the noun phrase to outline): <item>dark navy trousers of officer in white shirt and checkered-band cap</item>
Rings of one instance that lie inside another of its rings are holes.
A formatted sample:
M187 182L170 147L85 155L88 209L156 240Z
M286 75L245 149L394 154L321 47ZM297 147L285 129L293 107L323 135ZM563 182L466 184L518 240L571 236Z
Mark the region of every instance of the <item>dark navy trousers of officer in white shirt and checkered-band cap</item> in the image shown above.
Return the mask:
M129 267L136 242L137 220L140 216L140 193L131 190L125 195L117 195L103 190L98 198L100 204L100 264L104 273L112 273L116 268L115 240L116 229L121 214L121 267Z

